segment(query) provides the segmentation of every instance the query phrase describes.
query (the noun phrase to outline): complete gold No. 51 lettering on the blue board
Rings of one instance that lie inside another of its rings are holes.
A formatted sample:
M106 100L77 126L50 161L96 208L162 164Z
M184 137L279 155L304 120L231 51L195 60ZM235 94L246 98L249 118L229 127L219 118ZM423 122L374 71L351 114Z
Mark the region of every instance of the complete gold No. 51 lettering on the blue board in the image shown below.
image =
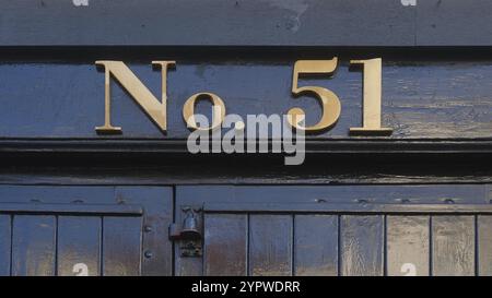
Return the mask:
M161 98L156 98L149 88L137 78L137 75L122 62L101 60L95 62L105 71L105 119L104 124L96 127L99 134L121 133L121 128L112 123L110 115L110 80L118 81L130 94L133 100L142 108L147 116L163 132L167 129L167 72L176 65L175 61L152 61L153 65L161 68L162 92ZM362 105L362 127L350 128L352 135L388 135L393 129L382 127L382 59L351 60L353 67L361 67L363 72L363 105ZM298 86L300 76L326 75L333 76L338 65L338 58L330 60L297 60L294 63L292 73L292 95L315 97L321 108L321 117L316 124L302 126L295 119L304 118L302 108L293 107L286 111L292 129L303 130L306 133L319 133L337 123L341 114L340 98L332 91L320 86ZM213 110L219 110L212 115L212 123L209 127L198 127L195 121L195 106L199 100L209 100ZM215 109L218 108L218 109ZM191 130L213 130L219 128L226 115L225 102L220 95L209 92L191 95L183 106L183 118ZM294 120L292 120L294 119Z

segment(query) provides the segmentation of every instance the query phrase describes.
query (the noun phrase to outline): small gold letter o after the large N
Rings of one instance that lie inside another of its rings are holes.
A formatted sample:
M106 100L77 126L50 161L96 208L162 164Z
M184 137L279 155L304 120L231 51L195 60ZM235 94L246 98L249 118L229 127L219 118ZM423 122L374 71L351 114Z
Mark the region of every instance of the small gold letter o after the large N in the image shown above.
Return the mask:
M201 98L207 98L212 103L212 126L199 128L195 121L195 105ZM219 128L225 118L225 105L222 99L213 93L202 92L191 95L183 106L183 118L189 129L192 130L213 130Z

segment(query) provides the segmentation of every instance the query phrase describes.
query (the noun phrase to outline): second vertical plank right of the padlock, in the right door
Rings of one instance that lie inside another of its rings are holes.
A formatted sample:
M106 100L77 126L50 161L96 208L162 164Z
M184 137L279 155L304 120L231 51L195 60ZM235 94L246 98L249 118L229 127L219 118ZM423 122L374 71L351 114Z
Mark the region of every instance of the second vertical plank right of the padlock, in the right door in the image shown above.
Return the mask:
M249 217L249 274L292 274L291 215L250 215Z

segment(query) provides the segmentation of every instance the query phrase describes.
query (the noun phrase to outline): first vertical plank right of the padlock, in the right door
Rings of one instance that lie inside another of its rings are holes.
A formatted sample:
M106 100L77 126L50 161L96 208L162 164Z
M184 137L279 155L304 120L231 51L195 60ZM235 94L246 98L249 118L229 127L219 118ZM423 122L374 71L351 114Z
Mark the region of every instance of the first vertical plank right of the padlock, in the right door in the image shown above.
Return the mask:
M206 214L206 275L247 274L247 215Z

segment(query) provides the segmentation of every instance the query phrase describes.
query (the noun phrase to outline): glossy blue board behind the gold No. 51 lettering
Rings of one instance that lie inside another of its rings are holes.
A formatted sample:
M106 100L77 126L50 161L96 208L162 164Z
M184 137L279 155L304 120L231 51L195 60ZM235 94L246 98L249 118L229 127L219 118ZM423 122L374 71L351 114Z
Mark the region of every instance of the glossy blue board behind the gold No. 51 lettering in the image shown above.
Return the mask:
M112 119L115 126L122 127L124 133L112 139L186 139L189 131L181 119L183 105L189 96L202 91L218 94L227 114L238 114L244 119L247 114L283 115L298 106L306 112L307 124L315 123L320 117L316 100L309 96L294 99L291 95L293 63L294 60L177 61L176 71L168 75L165 135L113 82ZM159 94L161 75L152 70L150 61L129 63L129 67ZM394 133L382 139L490 139L490 60L406 64L385 61L383 124L393 128ZM3 82L0 85L2 98L10 98L0 109L0 136L107 139L98 136L94 130L104 121L104 75L96 71L93 62L0 63L0 81ZM362 75L349 71L347 61L339 65L335 78L306 79L300 85L332 90L341 100L342 114L337 124L314 138L349 139L349 128L361 126ZM197 112L209 115L209 106L199 105Z

